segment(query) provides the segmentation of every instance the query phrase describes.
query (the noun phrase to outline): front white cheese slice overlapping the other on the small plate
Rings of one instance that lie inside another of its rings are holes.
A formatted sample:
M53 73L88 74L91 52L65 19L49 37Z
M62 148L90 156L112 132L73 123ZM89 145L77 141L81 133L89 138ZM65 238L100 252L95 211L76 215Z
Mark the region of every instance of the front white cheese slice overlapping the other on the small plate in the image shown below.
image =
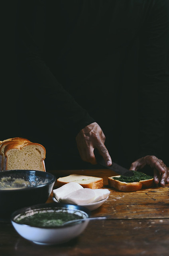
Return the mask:
M82 188L76 190L69 195L60 198L60 202L71 203L71 204L89 204L94 200L96 194L94 189Z

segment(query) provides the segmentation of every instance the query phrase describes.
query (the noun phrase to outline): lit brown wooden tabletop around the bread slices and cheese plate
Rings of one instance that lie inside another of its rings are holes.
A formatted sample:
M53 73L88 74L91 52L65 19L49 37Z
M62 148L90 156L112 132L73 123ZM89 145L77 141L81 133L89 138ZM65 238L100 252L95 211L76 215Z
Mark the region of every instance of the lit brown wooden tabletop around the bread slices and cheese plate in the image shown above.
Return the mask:
M135 192L122 192L108 186L108 177L116 175L116 172L109 169L64 170L53 173L56 177L76 173L103 178L104 188L110 190L110 195L104 205L92 212L92 214L108 214L114 219L161 218L161 215L163 218L169 217L169 184L165 187L152 187ZM52 197L49 198L48 202L52 202Z

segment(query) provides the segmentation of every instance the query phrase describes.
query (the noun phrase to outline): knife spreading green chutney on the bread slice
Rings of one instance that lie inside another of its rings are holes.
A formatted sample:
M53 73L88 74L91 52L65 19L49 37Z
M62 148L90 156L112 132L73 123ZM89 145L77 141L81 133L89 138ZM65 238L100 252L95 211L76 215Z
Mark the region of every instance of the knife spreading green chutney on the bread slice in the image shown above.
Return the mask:
M134 173L114 162L112 162L112 165L111 166L107 166L105 161L104 161L104 158L99 154L98 152L98 149L97 148L94 148L94 156L96 158L96 161L98 162L98 164L106 167L106 168L109 168L110 170L113 170L114 172L117 172L118 174L120 175L123 175L123 176L134 176Z

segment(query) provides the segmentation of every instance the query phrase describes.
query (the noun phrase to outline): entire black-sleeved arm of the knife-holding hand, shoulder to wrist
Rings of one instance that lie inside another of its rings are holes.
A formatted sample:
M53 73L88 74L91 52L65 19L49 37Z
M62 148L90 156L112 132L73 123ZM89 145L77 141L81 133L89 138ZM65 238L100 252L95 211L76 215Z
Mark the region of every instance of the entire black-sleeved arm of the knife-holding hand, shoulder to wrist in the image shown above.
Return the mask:
M18 69L29 94L46 103L45 114L47 110L52 112L53 119L76 136L94 120L57 81L43 58L44 15L40 1L20 1L16 25Z

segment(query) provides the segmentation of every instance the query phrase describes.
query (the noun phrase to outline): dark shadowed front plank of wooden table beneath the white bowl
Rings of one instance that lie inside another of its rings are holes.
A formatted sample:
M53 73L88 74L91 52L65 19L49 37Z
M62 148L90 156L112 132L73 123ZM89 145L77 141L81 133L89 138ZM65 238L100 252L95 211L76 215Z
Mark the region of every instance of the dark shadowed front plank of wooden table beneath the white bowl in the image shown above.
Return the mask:
M166 219L89 222L77 238L60 245L39 246L20 237L10 224L0 224L1 256L168 256Z

